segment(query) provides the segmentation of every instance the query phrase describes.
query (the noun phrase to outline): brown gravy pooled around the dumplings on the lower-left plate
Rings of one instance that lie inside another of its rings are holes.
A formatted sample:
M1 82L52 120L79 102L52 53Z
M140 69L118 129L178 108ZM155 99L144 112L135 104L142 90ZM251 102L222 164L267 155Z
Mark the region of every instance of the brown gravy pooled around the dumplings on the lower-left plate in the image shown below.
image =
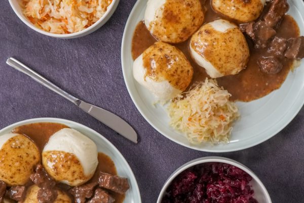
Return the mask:
M44 146L47 144L52 134L62 128L68 128L68 126L60 123L31 123L16 127L12 130L12 132L24 134L25 136L29 137L32 141L34 141L34 143L42 152ZM98 153L98 166L96 172L89 182L97 181L99 172L117 175L116 166L112 159L101 152ZM29 185L31 184L29 183L28 186ZM58 186L65 192L67 192L67 190L70 188L64 184L59 184ZM115 203L123 203L125 195L117 194L111 191L108 192L113 198L116 199ZM74 202L73 199L72 202Z

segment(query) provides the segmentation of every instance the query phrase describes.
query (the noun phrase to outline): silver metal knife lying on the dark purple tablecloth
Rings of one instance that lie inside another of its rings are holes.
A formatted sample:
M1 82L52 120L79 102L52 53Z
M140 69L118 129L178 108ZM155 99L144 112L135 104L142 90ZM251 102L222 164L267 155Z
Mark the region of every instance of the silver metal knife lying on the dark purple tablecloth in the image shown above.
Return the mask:
M96 107L94 105L88 104L85 101L72 96L71 94L67 93L66 91L60 89L58 86L44 78L43 76L39 75L38 73L31 70L28 66L24 65L17 59L10 57L7 60L7 64L14 67L14 69L28 75L36 82L44 85L45 87L49 88L50 90L56 92L57 94L63 96L67 100L71 101L74 105L78 106L100 122L104 123L111 129L115 130L116 132L120 133L122 136L127 138L128 140L137 143L137 134L135 130L122 118L119 116L104 110L100 107Z

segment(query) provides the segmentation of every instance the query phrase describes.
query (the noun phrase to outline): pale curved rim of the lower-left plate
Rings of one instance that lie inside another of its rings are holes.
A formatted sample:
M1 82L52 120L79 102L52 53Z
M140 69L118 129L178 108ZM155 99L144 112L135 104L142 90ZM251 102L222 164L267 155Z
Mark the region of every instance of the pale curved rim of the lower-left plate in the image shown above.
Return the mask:
M2 129L0 129L0 136L1 134L10 129L10 128L15 128L17 126L20 126L20 125L25 125L25 124L30 124L30 123L44 123L44 122L54 122L54 123L61 123L61 124L64 124L64 123L70 123L70 124L73 124L73 125L76 125L82 129L85 129L85 130L88 130L90 132L92 132L92 136L96 136L97 135L97 138L100 139L102 142L104 142L106 145L109 146L109 149L112 149L113 151L115 151L115 153L117 153L120 157L120 159L122 160L123 164L125 166L127 166L127 170L130 171L130 175L131 175L131 178L134 180L135 182L135 185L132 185L132 187L134 188L135 190L135 193L138 195L138 198L139 198L139 202L138 203L141 203L141 194L140 194L140 190L139 190L139 187L138 187L138 183L137 183L137 180L136 180L136 177L134 176L134 173L133 173L133 170L131 168L131 166L129 165L128 161L126 160L126 158L123 156L123 154L109 141L107 140L104 136L102 136L102 134L100 134L99 132L97 132L96 130L84 125L84 124L81 124L81 123L78 123L78 122L75 122L75 121L71 121L71 120L67 120L67 119L62 119L62 118L52 118L52 117L41 117L41 118L31 118L31 119L26 119L26 120L22 120L22 121L18 121L16 123L13 123L13 124L10 124ZM112 151L110 150L110 151ZM134 197L136 198L136 197ZM124 200L125 201L125 200Z

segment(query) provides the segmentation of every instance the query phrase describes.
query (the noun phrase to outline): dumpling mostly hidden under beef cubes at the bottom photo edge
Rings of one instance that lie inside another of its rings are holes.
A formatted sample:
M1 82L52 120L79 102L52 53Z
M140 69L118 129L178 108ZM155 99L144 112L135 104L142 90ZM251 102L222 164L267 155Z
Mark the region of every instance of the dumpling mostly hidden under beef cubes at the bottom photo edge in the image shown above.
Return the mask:
M38 187L37 185L30 186L26 191L24 200L22 202L19 201L19 203L39 203L37 199L37 194L39 190L40 187ZM54 203L71 203L71 199L66 193L62 192L59 189L57 190L57 193L58 196Z

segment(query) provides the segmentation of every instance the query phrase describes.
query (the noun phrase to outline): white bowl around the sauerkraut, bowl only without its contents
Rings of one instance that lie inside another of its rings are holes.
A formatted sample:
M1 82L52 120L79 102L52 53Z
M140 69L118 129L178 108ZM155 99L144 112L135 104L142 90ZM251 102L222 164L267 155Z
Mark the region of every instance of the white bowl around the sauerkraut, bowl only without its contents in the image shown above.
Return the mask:
M110 19L110 17L113 15L113 13L115 12L115 10L116 10L116 8L119 4L119 0L112 0L112 3L108 6L105 14L97 22L95 22L90 27L87 27L86 29L83 29L81 31L74 32L74 33L69 33L69 34L54 34L54 33L51 33L51 32L44 31L44 30L34 26L28 20L28 18L23 15L20 4L19 4L20 1L21 0L9 0L11 7L13 8L16 15L20 18L20 20L22 20L22 22L24 22L31 29L33 29L37 32L40 32L43 35L50 36L50 37L53 37L53 38L62 38L62 39L80 38L80 37L84 37L86 35L89 35L93 31L96 31L102 25L104 25L104 23L106 23L108 21L108 19Z

